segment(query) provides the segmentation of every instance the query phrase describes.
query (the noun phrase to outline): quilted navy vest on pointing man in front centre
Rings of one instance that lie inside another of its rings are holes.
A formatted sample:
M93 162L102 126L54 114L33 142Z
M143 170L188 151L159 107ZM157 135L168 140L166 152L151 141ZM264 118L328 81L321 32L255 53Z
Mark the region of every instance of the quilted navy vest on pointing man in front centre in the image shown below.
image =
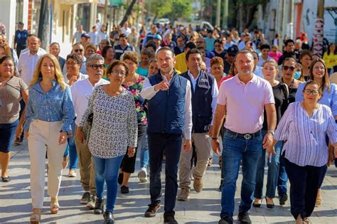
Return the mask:
M160 72L149 78L151 85L162 80ZM186 78L174 73L169 90L159 90L148 101L147 132L183 134L187 82Z

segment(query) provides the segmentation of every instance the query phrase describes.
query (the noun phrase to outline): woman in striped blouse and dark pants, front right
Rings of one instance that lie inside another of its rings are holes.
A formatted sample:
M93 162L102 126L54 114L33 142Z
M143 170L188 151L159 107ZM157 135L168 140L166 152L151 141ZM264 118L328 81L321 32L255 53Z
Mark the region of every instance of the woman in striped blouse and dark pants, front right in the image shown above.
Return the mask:
M320 176L328 161L326 134L337 153L335 119L330 107L318 103L322 97L320 83L309 80L302 94L304 101L289 105L274 136L274 144L287 140L282 156L291 183L291 214L296 224L307 223L314 210ZM274 147L268 152L275 153Z

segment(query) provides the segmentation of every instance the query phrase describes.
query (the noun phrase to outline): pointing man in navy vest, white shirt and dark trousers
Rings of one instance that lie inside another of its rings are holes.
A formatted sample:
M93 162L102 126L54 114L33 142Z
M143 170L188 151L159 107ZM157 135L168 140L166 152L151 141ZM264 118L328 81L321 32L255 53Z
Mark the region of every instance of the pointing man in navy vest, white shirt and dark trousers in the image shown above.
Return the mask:
M176 60L169 47L157 52L159 73L144 81L141 97L148 101L147 133L149 141L151 203L145 217L154 217L161 202L161 164L164 151L165 205L164 223L174 218L178 190L177 172L181 148L191 150L191 84L174 70ZM184 136L184 142L183 137ZM182 147L183 144L183 147Z

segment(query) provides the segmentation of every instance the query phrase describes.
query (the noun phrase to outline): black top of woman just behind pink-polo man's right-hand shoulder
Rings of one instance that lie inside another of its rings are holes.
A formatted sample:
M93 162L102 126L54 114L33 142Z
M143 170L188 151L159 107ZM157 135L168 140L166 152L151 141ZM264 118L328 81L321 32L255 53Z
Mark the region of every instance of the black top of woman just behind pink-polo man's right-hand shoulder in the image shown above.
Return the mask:
M287 110L287 107L289 105L289 101L288 101L289 97L288 97L288 93L286 90L286 86L283 82L279 82L278 85L273 86L272 92L274 94L274 100L275 100L277 124L279 124L279 120L281 119L282 115ZM262 130L268 130L266 110L264 110L264 121L263 121Z

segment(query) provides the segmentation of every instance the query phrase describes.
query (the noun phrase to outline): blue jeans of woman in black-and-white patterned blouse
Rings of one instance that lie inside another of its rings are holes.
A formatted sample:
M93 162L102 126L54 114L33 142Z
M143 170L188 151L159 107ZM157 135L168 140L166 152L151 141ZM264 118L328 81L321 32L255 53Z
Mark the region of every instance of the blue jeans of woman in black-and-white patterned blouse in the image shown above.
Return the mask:
M118 191L118 173L119 166L122 162L124 155L114 157L111 159L101 159L92 156L95 164L95 183L96 183L96 196L99 199L104 195L104 183L107 183L107 210L114 210L114 203L117 198Z

